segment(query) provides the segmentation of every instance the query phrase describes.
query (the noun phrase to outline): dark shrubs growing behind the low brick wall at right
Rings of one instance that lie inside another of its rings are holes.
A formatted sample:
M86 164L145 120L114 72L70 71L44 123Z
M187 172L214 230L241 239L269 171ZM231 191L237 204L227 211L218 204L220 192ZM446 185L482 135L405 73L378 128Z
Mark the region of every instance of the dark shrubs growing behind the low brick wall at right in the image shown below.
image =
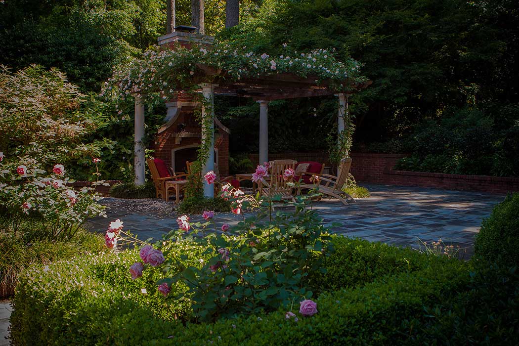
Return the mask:
M502 112L507 116L502 117ZM411 157L399 160L395 169L452 174L519 174L519 108L456 108L442 119L427 119L415 127L408 140Z

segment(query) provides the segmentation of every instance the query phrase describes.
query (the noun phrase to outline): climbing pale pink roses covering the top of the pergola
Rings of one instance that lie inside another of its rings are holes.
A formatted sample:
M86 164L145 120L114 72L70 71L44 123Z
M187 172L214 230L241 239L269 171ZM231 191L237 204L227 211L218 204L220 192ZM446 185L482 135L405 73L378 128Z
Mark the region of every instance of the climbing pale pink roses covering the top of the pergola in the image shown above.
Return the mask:
M284 45L284 54L279 57L253 50L227 43L212 47L194 45L190 49L177 47L175 50L161 50L156 46L146 51L141 59L134 60L126 70L114 71L113 77L105 82L101 95L119 100L130 94L148 99L171 99L178 90L198 88L199 77L208 69L217 72L213 78L230 80L278 73L312 76L318 82L326 79L338 91L346 91L351 85L365 80L357 61L351 58L338 61L330 50L304 53L291 51Z

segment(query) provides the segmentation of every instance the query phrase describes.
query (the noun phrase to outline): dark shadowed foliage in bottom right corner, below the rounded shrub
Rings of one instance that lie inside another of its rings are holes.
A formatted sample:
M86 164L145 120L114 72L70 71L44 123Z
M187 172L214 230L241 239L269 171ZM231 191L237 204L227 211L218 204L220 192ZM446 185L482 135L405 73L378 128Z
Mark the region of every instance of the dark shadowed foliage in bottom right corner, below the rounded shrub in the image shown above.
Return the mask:
M506 264L479 266L466 290L425 309L408 344L519 344L519 272ZM413 323L411 323L413 324Z

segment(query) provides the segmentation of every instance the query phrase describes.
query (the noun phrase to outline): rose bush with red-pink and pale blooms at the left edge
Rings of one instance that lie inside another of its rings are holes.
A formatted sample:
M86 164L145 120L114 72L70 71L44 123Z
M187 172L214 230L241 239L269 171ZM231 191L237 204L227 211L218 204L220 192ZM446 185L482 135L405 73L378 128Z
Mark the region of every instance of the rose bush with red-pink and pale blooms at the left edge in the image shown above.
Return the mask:
M28 156L6 161L0 162L0 201L15 225L24 214L34 215L48 222L51 239L71 238L89 217L104 215L93 188L76 191L67 186L73 181L63 165L54 165L48 173Z

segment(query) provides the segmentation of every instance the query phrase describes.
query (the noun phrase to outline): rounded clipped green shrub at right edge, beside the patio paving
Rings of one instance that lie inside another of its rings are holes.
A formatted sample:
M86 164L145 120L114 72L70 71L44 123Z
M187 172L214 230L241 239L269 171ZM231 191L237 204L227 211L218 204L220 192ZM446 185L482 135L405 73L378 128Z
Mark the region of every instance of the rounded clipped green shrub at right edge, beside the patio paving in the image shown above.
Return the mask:
M483 220L474 251L489 261L519 265L519 193L507 196Z

